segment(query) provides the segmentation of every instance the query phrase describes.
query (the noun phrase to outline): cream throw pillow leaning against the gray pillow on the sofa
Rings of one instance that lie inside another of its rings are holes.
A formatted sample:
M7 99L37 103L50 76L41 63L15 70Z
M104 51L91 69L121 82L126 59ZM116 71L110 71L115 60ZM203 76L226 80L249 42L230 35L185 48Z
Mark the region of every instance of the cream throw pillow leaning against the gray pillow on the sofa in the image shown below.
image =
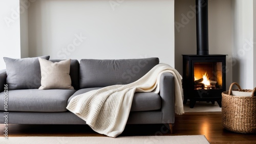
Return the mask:
M41 69L41 86L39 89L74 89L69 75L71 59L60 62L38 59Z

